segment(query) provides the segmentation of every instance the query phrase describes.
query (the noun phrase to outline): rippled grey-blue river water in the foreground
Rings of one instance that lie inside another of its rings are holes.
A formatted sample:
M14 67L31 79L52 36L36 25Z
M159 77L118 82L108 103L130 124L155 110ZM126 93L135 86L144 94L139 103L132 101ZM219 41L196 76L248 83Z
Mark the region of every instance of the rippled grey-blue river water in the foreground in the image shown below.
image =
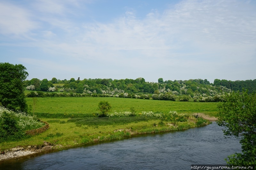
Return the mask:
M72 148L0 162L0 169L190 169L192 164L225 164L241 152L236 138L224 138L222 127L210 125L147 134L108 143Z

